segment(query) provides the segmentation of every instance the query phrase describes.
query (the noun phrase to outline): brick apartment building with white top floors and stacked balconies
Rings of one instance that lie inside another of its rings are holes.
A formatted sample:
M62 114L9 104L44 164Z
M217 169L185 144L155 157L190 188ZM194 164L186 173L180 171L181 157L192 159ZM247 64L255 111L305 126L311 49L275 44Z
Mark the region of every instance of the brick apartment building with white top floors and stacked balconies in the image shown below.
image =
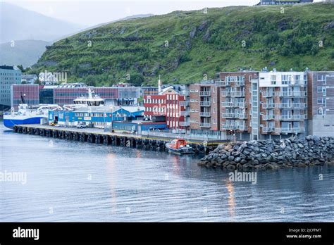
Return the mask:
M307 134L307 73L259 73L262 139Z

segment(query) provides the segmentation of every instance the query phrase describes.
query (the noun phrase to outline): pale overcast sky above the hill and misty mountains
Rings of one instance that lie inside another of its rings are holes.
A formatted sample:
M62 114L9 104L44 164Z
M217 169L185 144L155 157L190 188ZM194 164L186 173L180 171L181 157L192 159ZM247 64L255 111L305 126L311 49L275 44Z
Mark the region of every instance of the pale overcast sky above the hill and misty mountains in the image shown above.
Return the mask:
M4 1L4 0L0 0ZM259 0L6 0L37 13L78 23L85 26L106 23L130 15L163 14L176 10L188 11L202 8L223 7L231 5L254 5ZM321 1L321 0L315 0Z

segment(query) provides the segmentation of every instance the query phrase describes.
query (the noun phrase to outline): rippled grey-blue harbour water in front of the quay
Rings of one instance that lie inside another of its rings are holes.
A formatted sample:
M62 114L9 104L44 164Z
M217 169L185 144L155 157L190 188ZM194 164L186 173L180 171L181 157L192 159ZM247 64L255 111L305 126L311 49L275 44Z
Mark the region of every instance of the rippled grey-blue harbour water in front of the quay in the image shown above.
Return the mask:
M334 221L334 167L228 172L196 159L25 134L0 128L0 221ZM323 180L319 180L319 175Z

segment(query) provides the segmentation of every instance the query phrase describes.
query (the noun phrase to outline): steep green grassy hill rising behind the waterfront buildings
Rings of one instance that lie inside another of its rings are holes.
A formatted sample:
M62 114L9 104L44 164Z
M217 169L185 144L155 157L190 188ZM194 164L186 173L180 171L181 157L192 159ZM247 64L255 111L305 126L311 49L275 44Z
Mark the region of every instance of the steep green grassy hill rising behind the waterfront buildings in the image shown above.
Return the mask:
M231 6L123 20L54 43L34 66L70 81L189 83L223 70L334 70L334 4ZM130 75L130 76L129 76Z

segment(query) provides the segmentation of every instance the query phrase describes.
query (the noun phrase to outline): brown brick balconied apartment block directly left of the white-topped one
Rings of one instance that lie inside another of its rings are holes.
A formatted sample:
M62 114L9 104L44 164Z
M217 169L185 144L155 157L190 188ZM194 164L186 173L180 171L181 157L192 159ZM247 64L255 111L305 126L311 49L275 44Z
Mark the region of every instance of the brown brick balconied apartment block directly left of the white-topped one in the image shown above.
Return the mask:
M222 139L249 140L251 125L251 86L259 72L240 71L219 73L221 88L220 112Z

